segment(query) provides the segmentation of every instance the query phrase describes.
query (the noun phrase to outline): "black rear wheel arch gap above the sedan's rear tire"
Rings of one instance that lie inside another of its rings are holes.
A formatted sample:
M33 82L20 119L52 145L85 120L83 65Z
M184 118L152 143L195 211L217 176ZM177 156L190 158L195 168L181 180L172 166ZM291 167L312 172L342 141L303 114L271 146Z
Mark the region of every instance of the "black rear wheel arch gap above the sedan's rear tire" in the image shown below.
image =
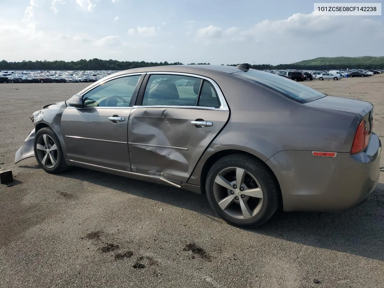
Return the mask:
M252 157L254 159L257 159L258 161L262 162L265 165L265 168L270 172L272 175L273 179L275 180L277 186L278 186L278 197L279 197L279 207L283 207L283 197L281 195L281 189L280 189L280 184L279 181L275 175L275 173L272 171L272 169L264 162L262 159L259 157L245 151L237 150L237 149L226 149L226 150L221 150L218 152L215 152L212 154L204 163L204 166L202 167L202 170L200 172L200 189L201 189L201 194L206 194L205 191L205 182L207 180L207 175L209 172L209 169L220 159L222 159L225 156L231 155L231 154L243 154L248 157Z

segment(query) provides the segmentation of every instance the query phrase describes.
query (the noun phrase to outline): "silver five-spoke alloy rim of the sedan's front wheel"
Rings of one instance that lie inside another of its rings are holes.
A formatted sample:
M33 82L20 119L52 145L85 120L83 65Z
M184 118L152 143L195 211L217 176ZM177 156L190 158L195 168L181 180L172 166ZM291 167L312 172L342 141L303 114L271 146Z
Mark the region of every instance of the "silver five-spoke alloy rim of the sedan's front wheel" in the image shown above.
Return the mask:
M53 168L57 164L58 151L55 141L51 136L42 134L36 142L36 154L41 164L46 168Z

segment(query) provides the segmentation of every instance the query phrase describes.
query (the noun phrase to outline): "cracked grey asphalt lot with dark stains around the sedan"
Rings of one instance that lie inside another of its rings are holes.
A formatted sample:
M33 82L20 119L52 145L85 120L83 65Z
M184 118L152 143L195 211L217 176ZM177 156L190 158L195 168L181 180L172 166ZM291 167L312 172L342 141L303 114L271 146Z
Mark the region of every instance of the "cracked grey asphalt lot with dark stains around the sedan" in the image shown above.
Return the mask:
M373 103L384 141L384 74L305 84ZM245 230L192 192L13 164L28 117L87 85L0 84L0 167L15 177L0 185L0 287L384 287L384 172L354 209L280 212Z

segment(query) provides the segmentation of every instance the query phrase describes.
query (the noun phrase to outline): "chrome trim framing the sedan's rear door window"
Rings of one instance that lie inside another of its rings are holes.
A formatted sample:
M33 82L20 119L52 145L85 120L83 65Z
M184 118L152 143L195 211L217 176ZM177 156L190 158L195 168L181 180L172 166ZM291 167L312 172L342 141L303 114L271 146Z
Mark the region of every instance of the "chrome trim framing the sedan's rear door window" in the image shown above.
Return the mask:
M182 106L182 105L151 105L151 106L145 106L145 105L136 105L133 106L134 108L144 108L144 107L151 107L151 108L186 108L186 109L204 109L204 110L221 110L221 111L229 111L227 101L225 100L224 94L222 93L220 87L218 84L214 81L214 79L197 75L197 74L191 74L191 73L183 73L183 72L147 72L147 74L164 74L164 75L180 75L180 76L189 76L194 78L200 78L207 80L214 88L217 93L220 107L204 107L204 106ZM148 83L147 83L148 85Z

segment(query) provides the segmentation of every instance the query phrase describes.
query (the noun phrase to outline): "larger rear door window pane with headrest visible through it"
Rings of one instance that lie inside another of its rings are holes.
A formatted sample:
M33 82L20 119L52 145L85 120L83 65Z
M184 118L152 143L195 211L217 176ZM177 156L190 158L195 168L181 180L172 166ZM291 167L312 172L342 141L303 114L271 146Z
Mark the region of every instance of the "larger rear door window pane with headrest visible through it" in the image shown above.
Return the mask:
M149 77L142 105L196 106L202 79L182 75Z

